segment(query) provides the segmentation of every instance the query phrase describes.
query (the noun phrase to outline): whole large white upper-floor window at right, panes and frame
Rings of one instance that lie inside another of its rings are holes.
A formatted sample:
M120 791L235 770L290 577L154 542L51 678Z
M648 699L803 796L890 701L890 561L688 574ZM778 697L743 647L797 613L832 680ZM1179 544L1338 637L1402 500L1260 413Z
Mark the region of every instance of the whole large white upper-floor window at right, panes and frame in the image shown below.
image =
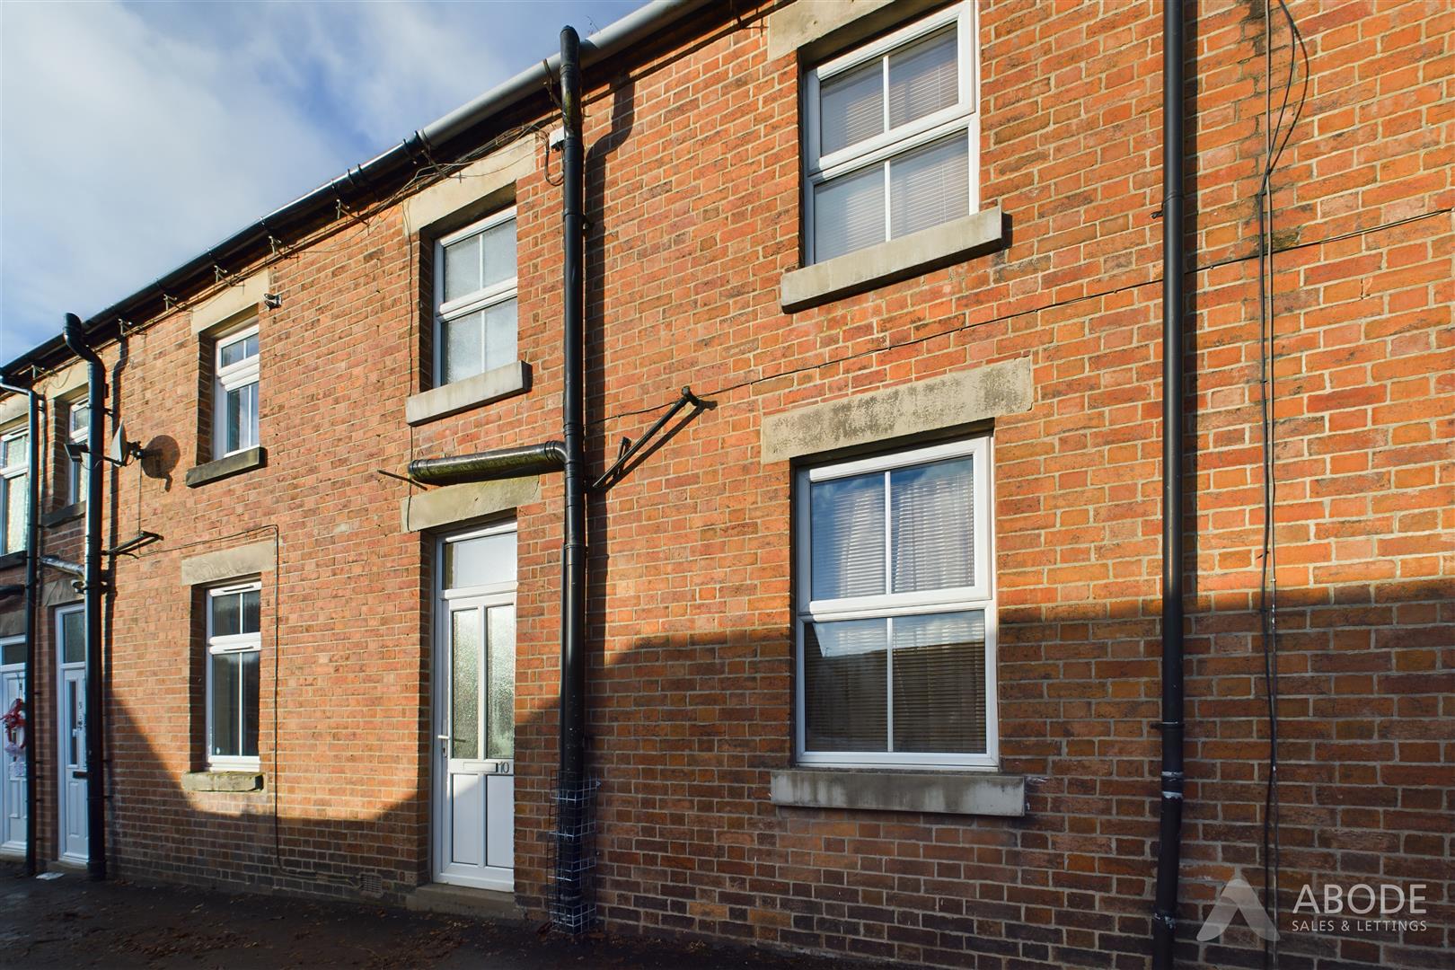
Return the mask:
M975 19L947 7L808 73L808 263L979 209Z

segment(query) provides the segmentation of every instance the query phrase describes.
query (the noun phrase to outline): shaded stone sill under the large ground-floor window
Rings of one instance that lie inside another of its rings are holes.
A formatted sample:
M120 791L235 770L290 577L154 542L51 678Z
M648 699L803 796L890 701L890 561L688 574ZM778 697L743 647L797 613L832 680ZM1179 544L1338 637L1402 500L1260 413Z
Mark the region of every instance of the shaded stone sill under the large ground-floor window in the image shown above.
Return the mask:
M773 772L770 793L776 806L805 809L1026 814L1026 778L995 772L787 768Z

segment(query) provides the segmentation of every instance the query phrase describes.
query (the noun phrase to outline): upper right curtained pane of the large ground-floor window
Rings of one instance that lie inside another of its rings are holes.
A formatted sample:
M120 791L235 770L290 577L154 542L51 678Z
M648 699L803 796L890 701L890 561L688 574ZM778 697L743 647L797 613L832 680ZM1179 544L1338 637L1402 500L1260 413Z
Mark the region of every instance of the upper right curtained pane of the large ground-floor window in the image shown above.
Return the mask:
M896 593L975 585L970 458L889 473Z

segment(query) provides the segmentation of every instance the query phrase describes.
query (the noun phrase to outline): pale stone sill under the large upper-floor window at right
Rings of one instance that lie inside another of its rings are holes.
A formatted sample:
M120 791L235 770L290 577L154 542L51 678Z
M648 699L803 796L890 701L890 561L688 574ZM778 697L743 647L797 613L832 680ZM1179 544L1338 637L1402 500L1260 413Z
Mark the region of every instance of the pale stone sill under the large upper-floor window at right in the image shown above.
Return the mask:
M994 252L1005 241L1002 224L1001 208L992 205L944 225L789 270L778 301L784 313L797 313Z

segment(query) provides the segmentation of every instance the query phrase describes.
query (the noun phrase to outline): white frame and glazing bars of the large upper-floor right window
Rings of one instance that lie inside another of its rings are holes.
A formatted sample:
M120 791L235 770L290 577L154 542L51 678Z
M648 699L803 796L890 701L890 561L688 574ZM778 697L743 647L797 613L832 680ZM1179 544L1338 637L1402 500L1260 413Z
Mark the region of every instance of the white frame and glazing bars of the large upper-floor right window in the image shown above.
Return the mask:
M888 33L870 44L854 48L831 61L825 61L808 71L803 87L803 257L806 265L819 262L815 254L813 239L813 191L821 183L841 175L879 164L885 175L885 239L896 239L893 234L892 207L889 198L889 166L883 164L890 159L908 154L941 138L966 132L969 144L969 205L968 212L975 214L981 208L979 201L979 156L981 156L981 113L979 103L979 42L976 23L976 4L962 3L931 13L892 33ZM889 128L889 99L885 97L885 131L873 138L847 145L828 156L819 151L819 87L825 80L837 74L853 70L866 61L879 58L885 71L885 89L888 89L889 60L896 48L905 47L920 38L954 23L959 52L956 67L959 70L959 102L941 108L940 111L917 118L912 122ZM898 237L902 239L902 237ZM858 252L858 250L853 250Z

